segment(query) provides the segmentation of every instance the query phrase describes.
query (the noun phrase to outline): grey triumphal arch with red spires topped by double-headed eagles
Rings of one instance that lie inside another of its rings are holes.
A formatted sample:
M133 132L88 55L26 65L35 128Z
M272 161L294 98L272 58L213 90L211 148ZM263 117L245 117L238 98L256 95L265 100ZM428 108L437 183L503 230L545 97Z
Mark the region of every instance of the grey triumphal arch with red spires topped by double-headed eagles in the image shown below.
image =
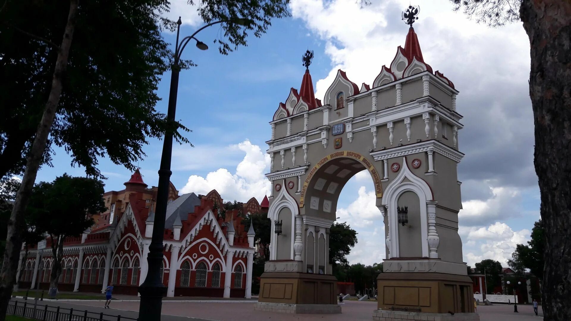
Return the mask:
M341 312L329 228L344 184L367 170L384 216L378 242L386 252L373 319L478 320L458 234L458 91L424 61L414 13L409 7L405 14L411 27L404 47L370 86L339 70L320 101L309 74L313 53L304 55L300 90L289 91L270 122L271 260L256 309Z

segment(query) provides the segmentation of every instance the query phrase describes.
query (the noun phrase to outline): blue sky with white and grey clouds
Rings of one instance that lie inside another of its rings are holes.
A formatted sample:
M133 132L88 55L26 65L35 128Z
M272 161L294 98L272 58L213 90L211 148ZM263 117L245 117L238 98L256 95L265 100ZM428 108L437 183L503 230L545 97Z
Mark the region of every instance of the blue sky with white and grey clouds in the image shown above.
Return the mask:
M171 0L168 17L182 16L181 35L202 26L196 7L187 0ZM413 3L414 4L414 3ZM269 194L264 176L270 160L265 143L271 121L289 88L299 89L304 67L301 56L313 50L309 67L316 98L342 69L352 82L369 85L381 66L390 65L397 46L404 46L408 26L401 11L408 1L372 0L360 7L355 0L293 0L290 18L272 21L261 38L221 55L214 40L219 27L197 38L210 46L188 46L183 58L198 66L180 74L176 119L192 130L186 135L195 147L175 145L171 181L180 193L206 194L216 188L226 200L259 201ZM540 218L540 196L533 168L533 115L529 99L529 41L521 23L491 29L452 11L447 0L421 3L415 31L425 62L444 73L460 94L457 111L464 116L460 130L459 164L462 204L459 234L464 261L499 260L507 266L517 243L529 240ZM175 35L164 33L170 43ZM170 74L163 75L156 108L166 113ZM360 85L359 85L360 86ZM162 141L151 139L146 157L138 163L144 181L158 183ZM71 158L55 148L54 167L43 167L37 181L53 180L67 172ZM106 158L99 159L107 176L106 190L121 190L130 172ZM345 185L337 216L358 232L359 242L349 262L373 264L385 257L383 218L375 207L372 179L361 172Z

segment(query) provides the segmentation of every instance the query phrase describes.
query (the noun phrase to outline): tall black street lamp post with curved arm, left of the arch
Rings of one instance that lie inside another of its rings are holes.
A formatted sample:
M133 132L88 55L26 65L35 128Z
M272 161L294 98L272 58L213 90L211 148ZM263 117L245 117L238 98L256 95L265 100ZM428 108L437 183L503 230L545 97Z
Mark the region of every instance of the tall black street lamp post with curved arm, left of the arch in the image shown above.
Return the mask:
M200 50L207 50L208 46L206 43L199 41L194 36L198 34L201 30L206 27L215 25L216 23L232 22L237 25L248 26L251 21L243 18L235 18L231 20L215 21L208 23L207 25L196 30L194 34L184 37L179 42L180 34L180 17L176 24L178 25L176 30L176 47L174 53L174 62L171 66L171 87L170 93L168 94L168 111L167 111L167 121L172 123L175 121L176 112L176 96L178 94L178 82L180 73L180 55L184 50L184 47L192 39L196 41L196 47ZM156 196L156 211L155 211L155 222L152 230L152 239L149 246L149 251L147 255L148 272L143 284L139 287L139 293L141 295L139 304L139 320L141 321L157 321L160 320L160 312L162 308L162 299L167 292L167 288L164 286L160 278L160 266L163 260L163 234L164 234L164 219L167 211L168 202L168 187L171 178L171 156L172 156L172 133L164 134L163 141L163 153L160 158L160 169L159 169L159 188ZM171 273L176 273L171 271Z

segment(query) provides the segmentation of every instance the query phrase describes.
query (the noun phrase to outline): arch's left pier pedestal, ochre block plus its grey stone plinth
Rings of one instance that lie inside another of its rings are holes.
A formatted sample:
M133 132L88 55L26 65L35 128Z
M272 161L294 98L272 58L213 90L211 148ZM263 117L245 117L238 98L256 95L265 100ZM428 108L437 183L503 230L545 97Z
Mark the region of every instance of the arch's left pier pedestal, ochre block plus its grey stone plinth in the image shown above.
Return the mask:
M289 313L340 313L337 279L302 272L264 272L256 310Z

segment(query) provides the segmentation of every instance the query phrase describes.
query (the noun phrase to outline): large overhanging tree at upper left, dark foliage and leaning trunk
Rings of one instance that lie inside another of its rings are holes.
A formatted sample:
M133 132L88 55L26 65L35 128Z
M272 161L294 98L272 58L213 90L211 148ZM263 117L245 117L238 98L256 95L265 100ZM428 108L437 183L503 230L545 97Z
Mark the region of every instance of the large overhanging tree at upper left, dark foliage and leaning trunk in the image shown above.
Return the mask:
M198 5L206 22L237 15L250 22L221 25L225 39L217 41L227 54L232 46L246 45L247 31L259 37L270 19L288 15L287 3L204 0ZM7 106L0 121L0 177L25 168L7 224L0 321L15 278L22 242L18 231L38 168L49 163L52 142L95 176L101 176L96 164L104 155L134 169L147 137L173 133L177 141L188 142L177 131L186 127L154 110L156 85L172 61L160 34L175 28L175 22L161 17L166 10L166 0L94 0L81 6L78 0L5 0L0 7L0 72L10 79L0 91L0 105Z

